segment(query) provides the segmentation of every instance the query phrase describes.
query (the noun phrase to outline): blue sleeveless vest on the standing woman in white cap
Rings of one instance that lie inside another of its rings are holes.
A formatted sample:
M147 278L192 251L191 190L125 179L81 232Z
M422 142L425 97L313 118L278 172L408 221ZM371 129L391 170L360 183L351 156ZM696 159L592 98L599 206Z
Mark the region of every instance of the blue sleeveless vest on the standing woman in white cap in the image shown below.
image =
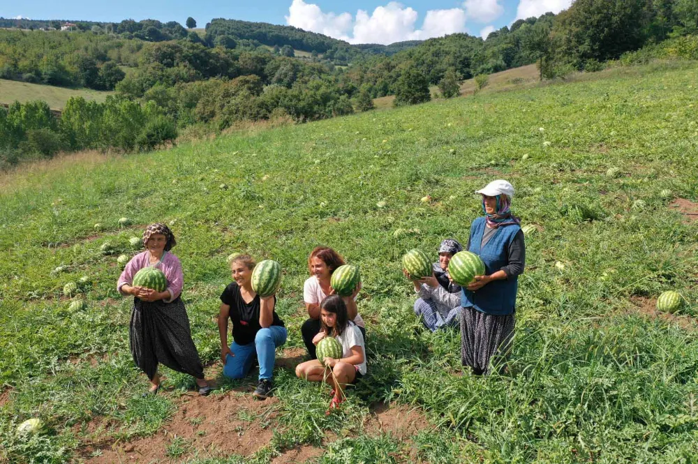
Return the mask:
M482 247L482 234L487 224L485 216L473 220L470 226L470 248L468 251L479 255L484 262L485 274L488 276L509 264L507 246L512 243L514 236L521 230L516 224L497 227L487 244ZM514 313L517 302L519 279L510 277L505 280L493 280L480 290L470 292L463 287L461 306L473 306L482 313L492 315L508 315Z

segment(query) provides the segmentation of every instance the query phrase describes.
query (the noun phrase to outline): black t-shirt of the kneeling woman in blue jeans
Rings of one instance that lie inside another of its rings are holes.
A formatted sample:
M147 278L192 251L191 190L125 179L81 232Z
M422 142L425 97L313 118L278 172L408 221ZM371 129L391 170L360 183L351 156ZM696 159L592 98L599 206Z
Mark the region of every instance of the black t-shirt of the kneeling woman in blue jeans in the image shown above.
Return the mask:
M242 294L240 294L240 287L237 286L237 283L232 282L223 290L221 301L223 301L223 304L230 306L232 338L235 340L235 343L238 345L254 343L257 332L262 328L260 326L260 308L262 304L260 296L255 295L255 298L250 303L245 303ZM274 304L276 304L276 297L274 297ZM273 317L272 325L285 327L283 320L279 319L276 311L274 311Z

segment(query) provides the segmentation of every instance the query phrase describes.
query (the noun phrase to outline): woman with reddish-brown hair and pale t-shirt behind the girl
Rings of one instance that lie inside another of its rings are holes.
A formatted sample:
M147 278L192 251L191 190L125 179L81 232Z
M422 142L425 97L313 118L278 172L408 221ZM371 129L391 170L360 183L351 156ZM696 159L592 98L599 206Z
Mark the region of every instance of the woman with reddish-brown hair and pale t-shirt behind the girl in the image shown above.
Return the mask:
M343 264L344 260L339 253L332 248L327 248L327 246L316 247L308 257L308 270L312 276L303 285L303 300L310 318L303 323L301 334L311 359L315 359L313 337L320 331L320 301L325 299L327 295L334 293L332 285L329 285L329 281L332 278L334 269ZM346 306L349 320L352 320L359 327L365 340L366 329L364 328L364 320L359 315L356 307L356 296L360 289L361 284L357 287L352 298L346 301Z

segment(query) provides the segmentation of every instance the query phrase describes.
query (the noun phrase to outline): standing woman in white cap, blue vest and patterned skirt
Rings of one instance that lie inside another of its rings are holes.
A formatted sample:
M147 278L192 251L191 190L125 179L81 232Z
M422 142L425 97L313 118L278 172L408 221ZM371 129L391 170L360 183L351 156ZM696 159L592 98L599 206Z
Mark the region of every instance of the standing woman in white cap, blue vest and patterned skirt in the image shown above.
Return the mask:
M523 273L526 247L519 218L509 211L512 184L492 181L475 193L482 195L485 215L473 220L466 249L482 258L485 274L463 287L461 361L475 375L487 375L491 358L506 357L511 347L517 280Z

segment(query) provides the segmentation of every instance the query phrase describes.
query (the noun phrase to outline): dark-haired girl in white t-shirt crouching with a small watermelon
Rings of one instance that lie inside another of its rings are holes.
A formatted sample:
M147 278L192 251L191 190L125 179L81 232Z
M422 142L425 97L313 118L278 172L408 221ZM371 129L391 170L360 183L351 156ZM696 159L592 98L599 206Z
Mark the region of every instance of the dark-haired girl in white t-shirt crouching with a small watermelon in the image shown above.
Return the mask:
M330 295L320 303L320 332L313 338L317 345L322 338L331 336L342 345L341 359L326 357L323 361L312 359L296 366L296 375L310 382L327 382L332 385L332 402L327 414L344 401L343 388L366 375L366 348L364 336L354 322L348 320L347 307L339 295Z

